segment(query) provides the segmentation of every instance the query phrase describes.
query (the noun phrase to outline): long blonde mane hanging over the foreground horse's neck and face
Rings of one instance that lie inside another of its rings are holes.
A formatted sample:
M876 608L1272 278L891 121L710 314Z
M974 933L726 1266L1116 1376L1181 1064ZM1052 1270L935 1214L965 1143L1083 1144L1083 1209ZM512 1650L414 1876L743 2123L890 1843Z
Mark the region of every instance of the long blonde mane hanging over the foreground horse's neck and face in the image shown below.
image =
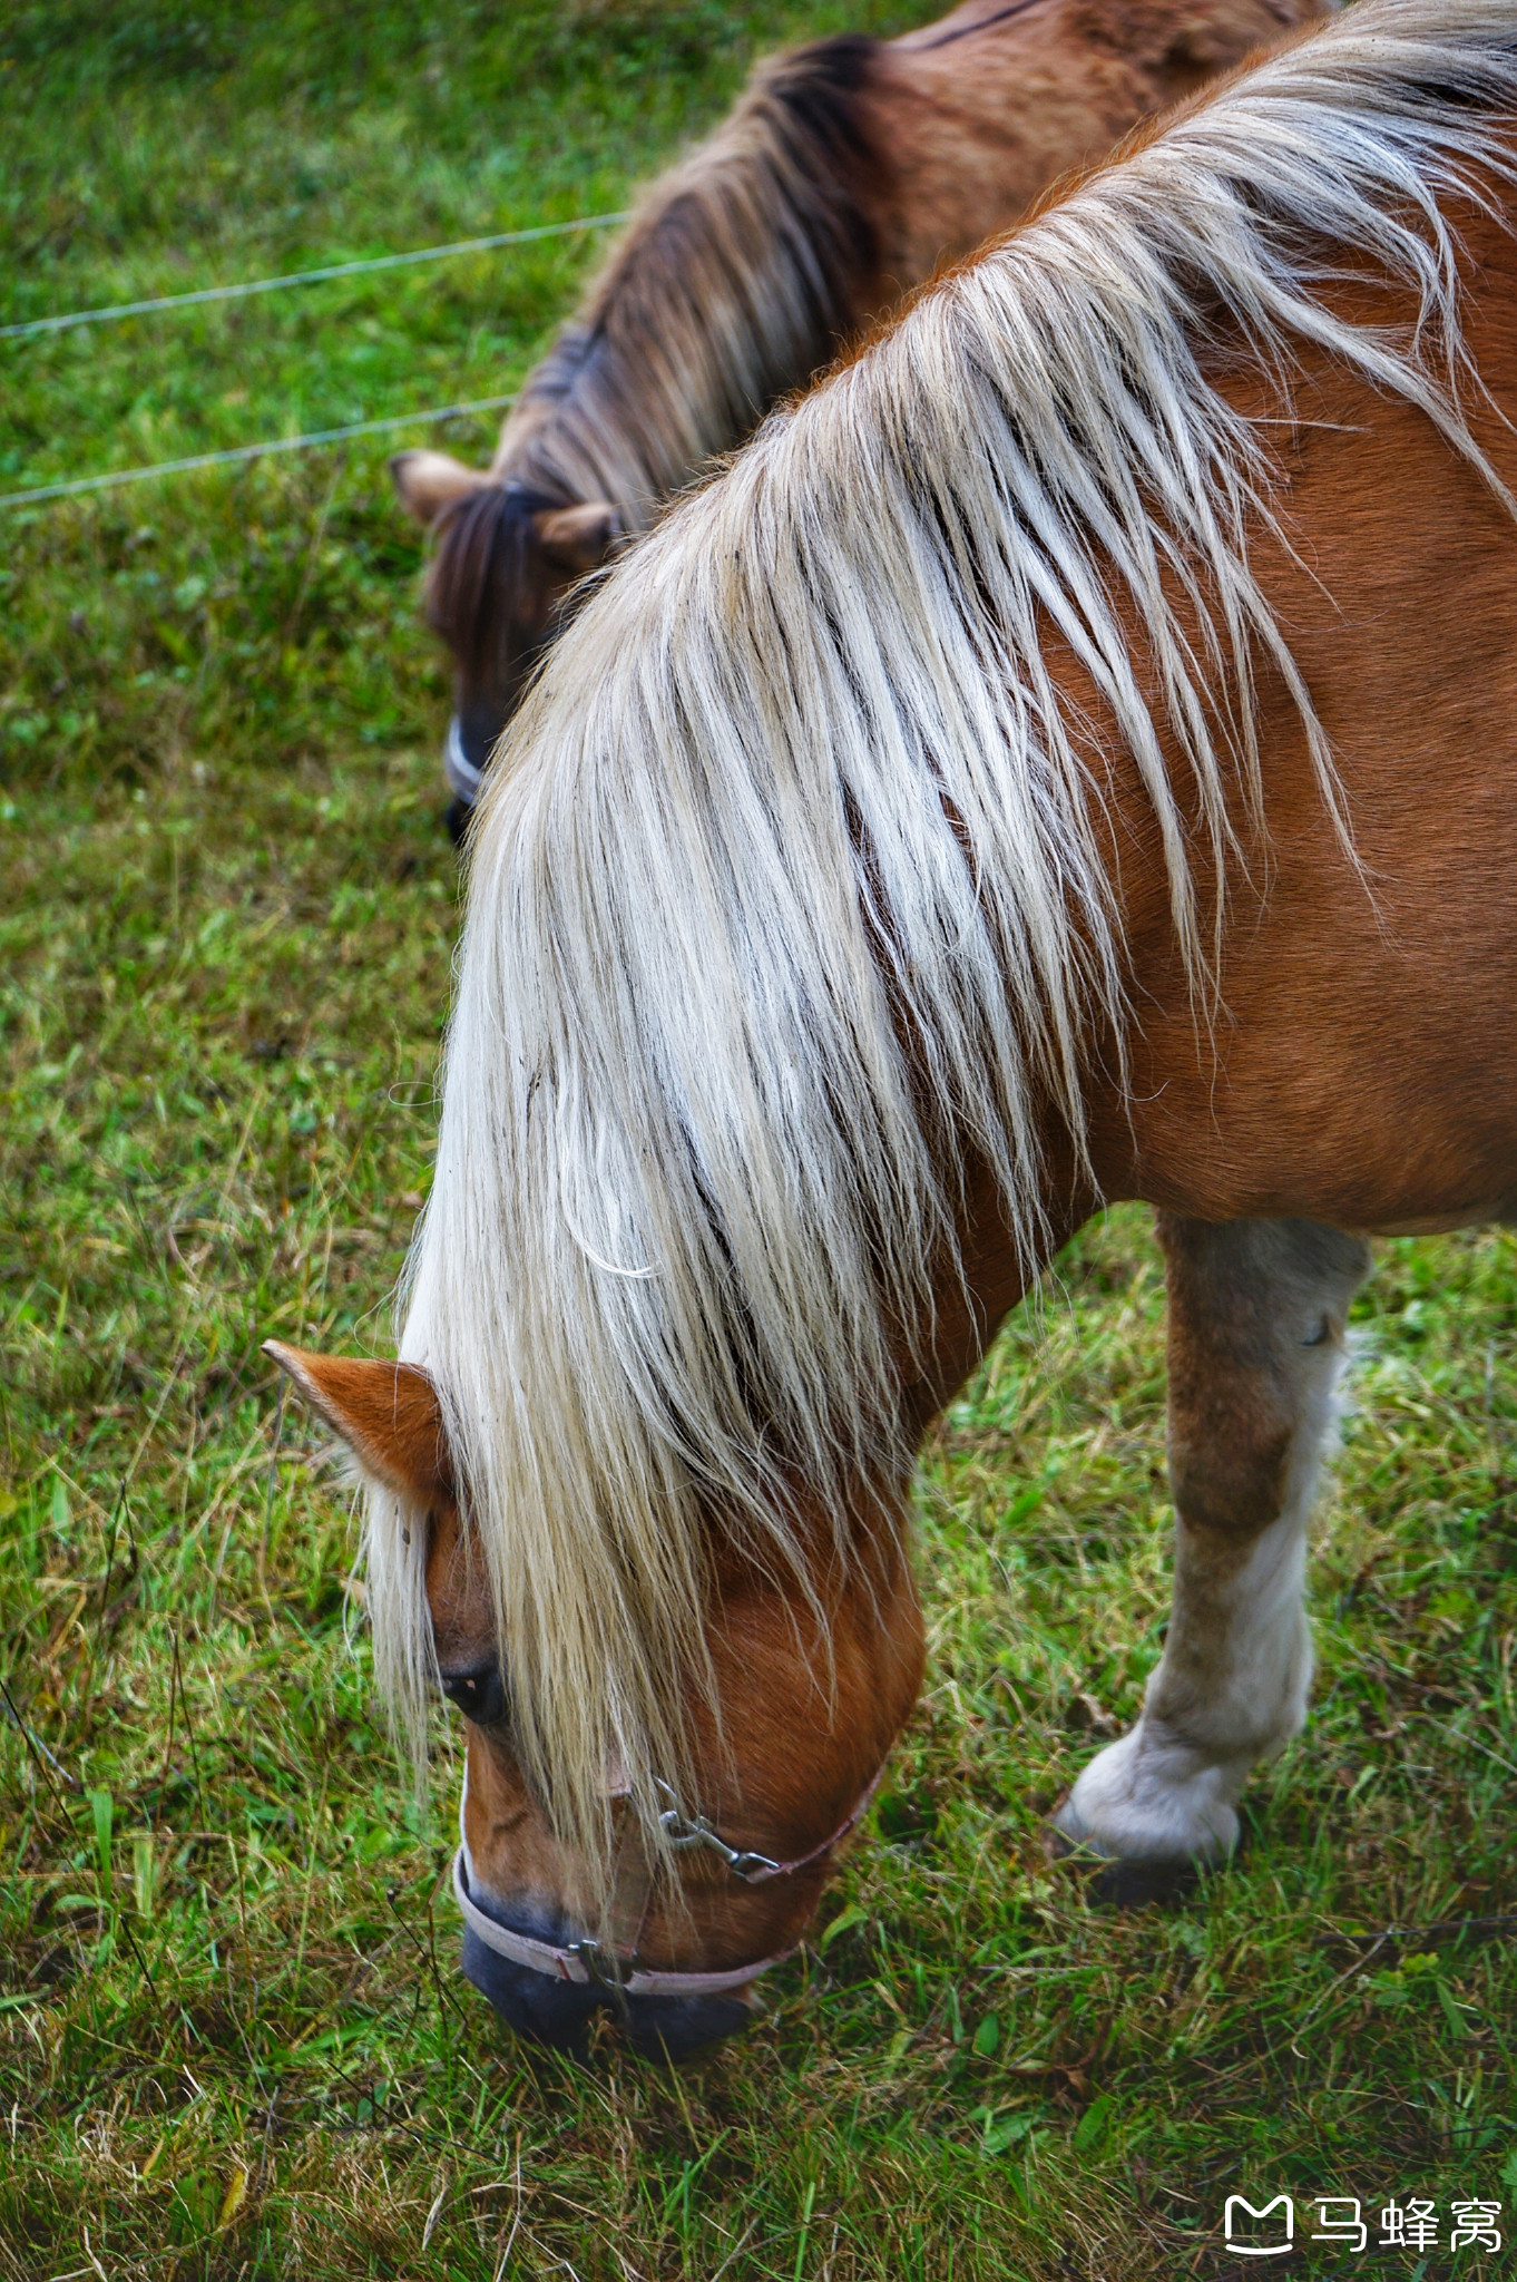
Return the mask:
M1088 1041L1122 1034L1100 753L1047 630L1143 776L1202 1000L1262 801L1250 655L1332 799L1248 568L1268 445L1207 345L1289 383L1312 342L1478 461L1439 203L1506 167L1515 48L1512 0L1362 0L1225 87L771 420L518 717L401 1353L468 1481L522 1764L593 1858L607 1766L643 1796L684 1766L707 1531L798 1575L794 1492L842 1513L910 1460L903 1358L956 1257L942 1136L1036 1260L1043 1120L1079 1136ZM1414 335L1332 313L1344 256L1414 290ZM415 1709L397 1531L376 1497L379 1664Z

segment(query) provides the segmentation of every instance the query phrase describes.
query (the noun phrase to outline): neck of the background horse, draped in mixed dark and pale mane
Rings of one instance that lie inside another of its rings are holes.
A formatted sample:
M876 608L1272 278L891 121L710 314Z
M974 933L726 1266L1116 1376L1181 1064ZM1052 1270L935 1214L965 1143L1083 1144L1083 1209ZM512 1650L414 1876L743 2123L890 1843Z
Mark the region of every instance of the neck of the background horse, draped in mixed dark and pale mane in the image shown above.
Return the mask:
M894 178L874 155L874 41L766 66L664 176L502 429L495 475L652 520L801 386L881 294Z

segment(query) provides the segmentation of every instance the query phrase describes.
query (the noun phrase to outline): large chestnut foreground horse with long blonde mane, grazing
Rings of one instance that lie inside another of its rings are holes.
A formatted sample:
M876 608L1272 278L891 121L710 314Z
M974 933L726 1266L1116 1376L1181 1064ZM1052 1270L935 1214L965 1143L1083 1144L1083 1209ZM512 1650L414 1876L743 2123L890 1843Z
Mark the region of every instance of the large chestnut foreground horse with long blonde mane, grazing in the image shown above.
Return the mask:
M922 1675L917 1438L1159 1207L1175 1607L1070 1844L1218 1862L1305 1716L1376 1230L1517 1212L1517 7L1360 0L776 413L484 803L399 1362L276 1349L465 1967L678 2049Z

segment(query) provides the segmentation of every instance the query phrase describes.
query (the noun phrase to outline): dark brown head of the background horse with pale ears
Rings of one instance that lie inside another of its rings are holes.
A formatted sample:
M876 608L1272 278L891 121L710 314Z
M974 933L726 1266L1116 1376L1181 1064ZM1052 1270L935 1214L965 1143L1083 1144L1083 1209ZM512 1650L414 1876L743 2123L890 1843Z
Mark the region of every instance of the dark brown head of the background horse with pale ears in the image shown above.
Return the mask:
M447 452L399 452L390 475L438 541L427 621L454 653L445 769L461 826L570 589L600 568L623 525L607 500L568 500Z

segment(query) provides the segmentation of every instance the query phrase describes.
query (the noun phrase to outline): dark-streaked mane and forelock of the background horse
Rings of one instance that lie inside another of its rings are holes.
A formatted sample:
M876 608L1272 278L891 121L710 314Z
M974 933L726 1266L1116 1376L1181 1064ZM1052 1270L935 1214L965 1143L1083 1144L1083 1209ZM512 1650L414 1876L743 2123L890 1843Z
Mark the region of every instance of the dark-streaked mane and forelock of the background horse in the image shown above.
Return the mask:
M746 436L881 299L892 169L858 100L878 46L844 34L760 73L739 112L741 178L691 169L634 226L586 317L559 333L522 390L509 422L509 436L522 438L509 482L443 507L427 621L459 662L461 733L477 764L563 623L554 589L593 568L595 548L557 548L543 518L584 502L586 472L605 456L598 438L616 440L600 488L618 502L620 527L634 529L680 484L691 443L705 456ZM757 217L766 260L755 260ZM700 356L719 308L728 313L723 354ZM671 415L684 408L671 390L648 386L650 363L671 361L700 367L696 436L689 418ZM575 399L584 411L566 422ZM547 607L534 609L543 593Z

